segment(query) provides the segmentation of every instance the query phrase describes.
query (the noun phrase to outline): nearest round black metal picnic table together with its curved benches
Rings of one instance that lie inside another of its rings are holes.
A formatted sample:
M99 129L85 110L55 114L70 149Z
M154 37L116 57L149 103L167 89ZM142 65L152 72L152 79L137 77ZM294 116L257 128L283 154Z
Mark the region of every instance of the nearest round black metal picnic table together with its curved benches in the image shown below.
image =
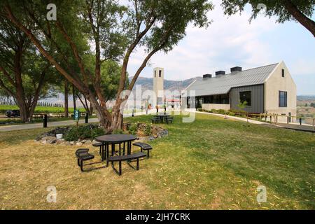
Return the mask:
M111 167L113 168L114 172L120 176L122 174L122 161L127 161L127 165L133 169L139 170L139 159L150 157L149 151L152 150L152 146L142 142L133 144L134 146L139 146L141 148L141 152L132 153L132 141L136 139L137 137L132 134L106 134L95 138L95 140L98 142L92 144L92 146L99 147L101 163L105 161L105 167L108 167L109 162L111 162ZM118 148L116 148L116 146L118 146ZM110 151L111 155L109 155ZM147 154L143 153L143 151L147 151ZM76 150L76 157L78 160L78 166L82 172L87 171L83 169L83 162L94 159L94 155L89 153L88 148L79 148ZM130 162L134 162L135 160L137 161L137 166L133 167L130 165ZM118 170L115 168L114 162L119 163Z

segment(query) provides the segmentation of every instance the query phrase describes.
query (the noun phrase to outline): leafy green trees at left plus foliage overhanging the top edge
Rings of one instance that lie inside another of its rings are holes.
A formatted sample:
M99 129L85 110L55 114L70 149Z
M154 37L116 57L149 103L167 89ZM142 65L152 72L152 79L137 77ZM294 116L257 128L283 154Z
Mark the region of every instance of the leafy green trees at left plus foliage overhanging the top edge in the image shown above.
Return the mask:
M245 3L257 8L258 2L266 3L267 15L279 15L279 22L295 19L304 25L300 14L314 10L314 1L223 0L222 5L231 15ZM295 10L288 9L288 2ZM214 8L206 0L56 1L57 20L50 21L48 3L1 1L1 89L14 97L22 120L31 117L52 85L64 90L65 97L71 89L87 111L95 110L107 132L122 127L120 111L148 60L158 51L172 50L189 24L207 27L207 13ZM127 66L139 48L146 49L146 56L129 83ZM115 99L111 113L109 99ZM66 105L67 98L64 101Z

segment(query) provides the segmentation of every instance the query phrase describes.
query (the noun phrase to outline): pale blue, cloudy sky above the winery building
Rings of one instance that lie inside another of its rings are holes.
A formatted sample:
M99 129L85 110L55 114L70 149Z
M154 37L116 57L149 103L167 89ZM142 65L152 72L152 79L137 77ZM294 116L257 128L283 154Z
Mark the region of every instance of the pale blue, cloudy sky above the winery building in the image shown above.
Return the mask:
M223 14L220 0L212 1L213 20L205 28L188 26L186 37L167 55L158 52L151 58L142 77L153 77L153 67L163 67L165 79L184 80L233 66L251 69L285 62L297 85L297 94L315 94L315 38L297 22L276 23L276 18L258 18L248 22L251 8L239 15ZM314 20L313 16L313 20ZM145 57L144 48L132 54L127 68L133 76Z

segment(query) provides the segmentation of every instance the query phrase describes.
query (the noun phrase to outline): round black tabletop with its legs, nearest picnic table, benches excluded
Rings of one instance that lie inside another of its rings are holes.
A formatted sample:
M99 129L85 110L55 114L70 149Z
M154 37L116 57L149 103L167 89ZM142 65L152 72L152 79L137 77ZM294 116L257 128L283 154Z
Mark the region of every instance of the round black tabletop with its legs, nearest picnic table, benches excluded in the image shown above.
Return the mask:
M102 161L106 160L106 157L109 158L109 145L111 145L111 156L116 153L115 145L117 144L119 144L119 155L121 155L121 150L123 150L123 155L125 155L126 144L127 155L130 155L132 141L136 139L137 137L132 134L106 134L95 138L96 141L102 142ZM121 147L122 144L123 148Z

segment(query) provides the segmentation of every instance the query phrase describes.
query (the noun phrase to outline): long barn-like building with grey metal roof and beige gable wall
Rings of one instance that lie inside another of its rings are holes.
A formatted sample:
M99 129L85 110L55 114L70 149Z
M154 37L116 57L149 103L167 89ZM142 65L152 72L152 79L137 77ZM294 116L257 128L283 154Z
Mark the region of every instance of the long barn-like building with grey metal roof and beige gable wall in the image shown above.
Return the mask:
M195 90L195 99L186 97L188 108L239 110L246 101L248 113L275 113L296 116L296 85L284 62L242 70L236 66L231 72L216 71L205 74L186 90Z

